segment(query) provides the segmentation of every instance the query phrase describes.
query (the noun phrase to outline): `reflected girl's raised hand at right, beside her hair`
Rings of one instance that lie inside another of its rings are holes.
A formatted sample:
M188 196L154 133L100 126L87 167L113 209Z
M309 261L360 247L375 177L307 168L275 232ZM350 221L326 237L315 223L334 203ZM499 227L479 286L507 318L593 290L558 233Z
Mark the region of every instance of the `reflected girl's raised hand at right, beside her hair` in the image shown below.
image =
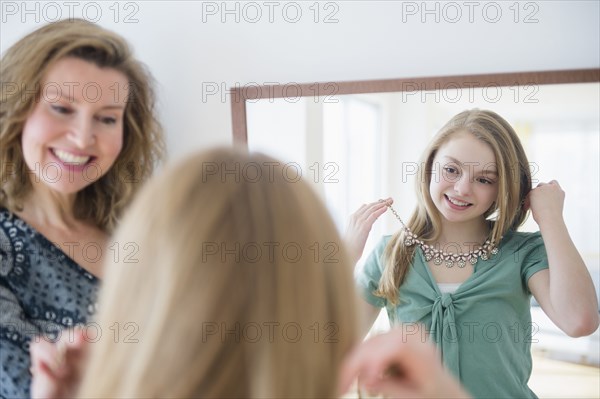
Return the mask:
M531 209L533 219L539 225L546 220L562 220L565 192L556 180L540 183L525 198L525 208Z

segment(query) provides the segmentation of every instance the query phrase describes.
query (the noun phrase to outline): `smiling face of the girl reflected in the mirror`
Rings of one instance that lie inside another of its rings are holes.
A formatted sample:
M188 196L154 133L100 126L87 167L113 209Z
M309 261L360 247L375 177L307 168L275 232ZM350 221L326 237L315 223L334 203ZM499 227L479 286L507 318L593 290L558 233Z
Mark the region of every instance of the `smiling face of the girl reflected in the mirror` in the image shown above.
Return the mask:
M454 133L433 160L429 190L443 219L482 218L498 196L496 157L489 145L468 132Z

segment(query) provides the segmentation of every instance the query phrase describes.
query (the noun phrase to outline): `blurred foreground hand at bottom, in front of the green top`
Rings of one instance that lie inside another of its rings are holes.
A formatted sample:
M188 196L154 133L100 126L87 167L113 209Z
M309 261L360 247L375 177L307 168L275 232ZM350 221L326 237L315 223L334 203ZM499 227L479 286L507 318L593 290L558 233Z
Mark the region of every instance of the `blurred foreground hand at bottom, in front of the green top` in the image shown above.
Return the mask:
M338 392L346 393L357 377L359 389L384 397L469 397L444 369L435 347L402 328L361 343L342 364Z

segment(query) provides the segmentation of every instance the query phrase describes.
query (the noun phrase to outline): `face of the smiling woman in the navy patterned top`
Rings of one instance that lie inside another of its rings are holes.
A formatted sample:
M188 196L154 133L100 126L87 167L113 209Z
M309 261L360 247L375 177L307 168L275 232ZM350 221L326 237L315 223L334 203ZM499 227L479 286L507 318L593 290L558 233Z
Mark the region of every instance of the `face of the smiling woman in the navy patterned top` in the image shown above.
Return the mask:
M123 146L127 83L115 69L73 57L48 70L21 137L34 187L76 193L108 172Z

